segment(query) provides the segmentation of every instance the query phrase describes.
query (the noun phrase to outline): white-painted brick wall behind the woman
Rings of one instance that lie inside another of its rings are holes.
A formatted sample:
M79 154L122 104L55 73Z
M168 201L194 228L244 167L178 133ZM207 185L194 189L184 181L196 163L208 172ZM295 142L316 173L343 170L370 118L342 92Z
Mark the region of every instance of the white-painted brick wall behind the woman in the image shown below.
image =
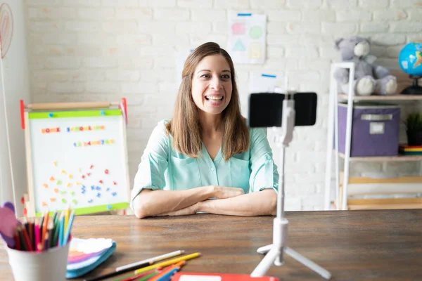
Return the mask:
M290 210L323 207L328 73L331 62L338 60L334 39L369 37L378 63L395 68L402 46L422 39L422 2L417 0L25 2L32 100L126 97L132 181L153 127L171 116L179 79L176 52L205 41L226 47L229 13L266 13L267 61L236 66L241 100L246 100L250 73L261 69L288 74L290 86L319 94L316 126L297 128L286 155ZM269 132L270 141L271 136ZM364 163L352 164L351 173L407 174L414 169L414 163Z

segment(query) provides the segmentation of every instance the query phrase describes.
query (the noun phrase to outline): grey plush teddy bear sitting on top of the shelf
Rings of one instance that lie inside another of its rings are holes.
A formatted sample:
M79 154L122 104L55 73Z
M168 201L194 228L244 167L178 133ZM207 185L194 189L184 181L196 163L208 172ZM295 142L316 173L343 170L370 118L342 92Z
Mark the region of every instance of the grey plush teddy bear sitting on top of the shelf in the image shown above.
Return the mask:
M387 68L373 65L376 58L369 55L371 44L362 37L340 38L335 40L335 48L340 51L344 62L354 63L353 89L355 95L393 95L397 91L397 79ZM349 69L338 67L334 78L342 91L348 93Z

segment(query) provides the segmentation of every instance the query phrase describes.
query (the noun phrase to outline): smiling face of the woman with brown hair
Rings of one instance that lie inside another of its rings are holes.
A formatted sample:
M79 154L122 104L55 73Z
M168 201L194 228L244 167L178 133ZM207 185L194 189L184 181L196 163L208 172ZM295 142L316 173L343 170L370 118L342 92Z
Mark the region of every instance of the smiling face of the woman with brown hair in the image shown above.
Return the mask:
M231 99L231 72L222 55L208 55L196 66L192 77L193 102L203 112L220 114Z

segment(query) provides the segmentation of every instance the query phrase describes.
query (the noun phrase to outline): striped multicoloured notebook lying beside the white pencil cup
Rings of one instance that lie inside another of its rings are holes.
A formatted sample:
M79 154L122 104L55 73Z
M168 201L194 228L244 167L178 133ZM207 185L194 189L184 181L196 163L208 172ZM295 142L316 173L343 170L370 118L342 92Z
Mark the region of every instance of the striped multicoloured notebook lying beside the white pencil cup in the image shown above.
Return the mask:
M76 278L94 270L116 249L116 242L105 238L72 237L69 245L66 278Z

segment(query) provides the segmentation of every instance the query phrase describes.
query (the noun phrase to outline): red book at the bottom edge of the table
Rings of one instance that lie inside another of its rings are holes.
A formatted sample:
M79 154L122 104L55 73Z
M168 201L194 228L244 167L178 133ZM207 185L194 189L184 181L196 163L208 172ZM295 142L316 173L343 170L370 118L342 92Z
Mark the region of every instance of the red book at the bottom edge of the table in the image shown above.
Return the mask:
M248 274L229 273L174 273L172 281L279 281L272 276L251 277Z

